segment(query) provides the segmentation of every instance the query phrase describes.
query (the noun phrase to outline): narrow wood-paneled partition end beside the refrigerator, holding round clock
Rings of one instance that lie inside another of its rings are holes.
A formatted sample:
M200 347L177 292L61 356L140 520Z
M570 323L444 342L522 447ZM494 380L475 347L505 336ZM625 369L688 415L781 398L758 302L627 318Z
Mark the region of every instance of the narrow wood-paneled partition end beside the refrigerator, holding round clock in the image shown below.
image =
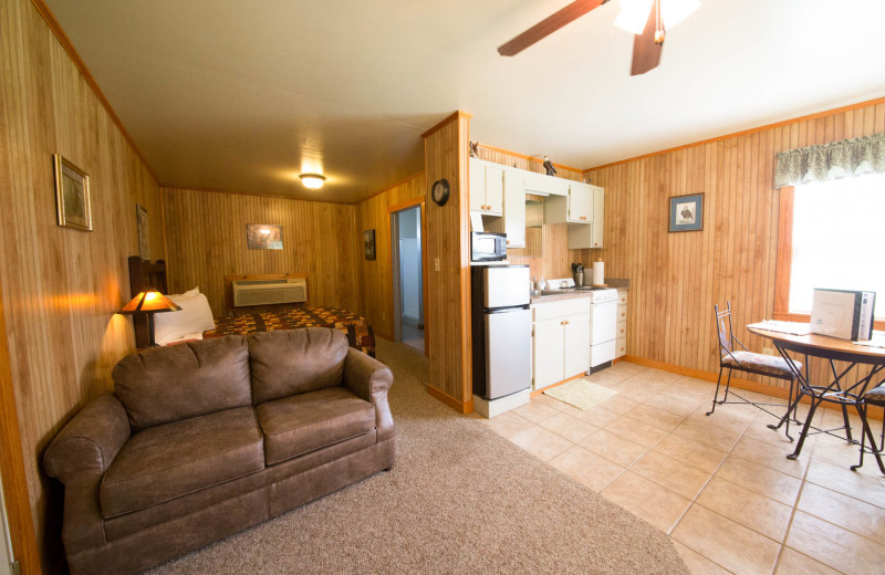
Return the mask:
M470 116L456 113L425 137L425 190L440 178L451 194L427 206L428 391L451 407L473 410L470 334L468 140ZM435 262L439 262L439 270Z

